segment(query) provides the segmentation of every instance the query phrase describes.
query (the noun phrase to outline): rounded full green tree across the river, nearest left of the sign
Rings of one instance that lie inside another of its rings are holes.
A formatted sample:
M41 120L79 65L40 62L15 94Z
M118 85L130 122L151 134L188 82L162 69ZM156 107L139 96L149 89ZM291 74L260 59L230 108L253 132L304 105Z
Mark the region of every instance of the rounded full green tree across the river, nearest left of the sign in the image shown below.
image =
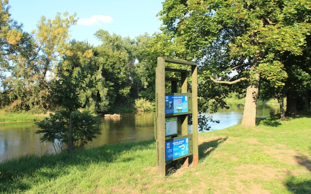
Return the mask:
M132 98L138 97L150 82L148 70L152 65L146 60L145 54L151 37L144 34L131 39L111 35L105 30L98 30L95 36L102 41L93 51L102 77L107 85L110 83L107 96L111 109L116 104L132 104Z

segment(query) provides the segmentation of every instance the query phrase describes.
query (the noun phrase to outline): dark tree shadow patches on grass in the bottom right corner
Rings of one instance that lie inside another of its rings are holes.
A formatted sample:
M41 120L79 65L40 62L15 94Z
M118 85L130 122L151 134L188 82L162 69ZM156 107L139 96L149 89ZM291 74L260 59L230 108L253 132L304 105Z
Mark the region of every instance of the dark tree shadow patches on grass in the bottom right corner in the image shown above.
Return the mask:
M304 155L295 156L298 164L305 167L311 172L311 160ZM290 192L293 193L311 193L311 178L294 176L290 172L285 180L285 186Z

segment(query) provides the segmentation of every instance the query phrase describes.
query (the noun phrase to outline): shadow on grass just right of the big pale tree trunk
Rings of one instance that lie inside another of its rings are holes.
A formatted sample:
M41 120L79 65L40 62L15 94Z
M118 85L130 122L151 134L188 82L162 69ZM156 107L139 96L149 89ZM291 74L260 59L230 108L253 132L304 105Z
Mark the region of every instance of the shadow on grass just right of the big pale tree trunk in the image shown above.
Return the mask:
M281 125L283 122L280 120L280 116L281 116L280 114L276 114L276 115L272 115L264 119L258 119L256 121L256 125L266 125L266 126L277 127ZM310 111L306 111L306 112L301 112L296 115L287 116L285 118L285 121L290 121L290 120L298 119L298 118L311 118L311 113Z

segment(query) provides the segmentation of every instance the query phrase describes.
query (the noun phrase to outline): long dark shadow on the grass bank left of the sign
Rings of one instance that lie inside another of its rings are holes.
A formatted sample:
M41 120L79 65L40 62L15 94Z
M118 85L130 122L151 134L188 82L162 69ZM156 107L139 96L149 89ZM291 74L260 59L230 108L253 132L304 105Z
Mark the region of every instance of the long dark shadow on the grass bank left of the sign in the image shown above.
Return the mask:
M127 151L154 147L154 142L154 140L147 140L107 144L77 150L72 154L45 154L42 156L29 154L5 160L0 163L0 191L7 193L23 192L36 183L48 182L70 173L72 167L85 168L93 163L112 163ZM131 160L131 158L127 160Z

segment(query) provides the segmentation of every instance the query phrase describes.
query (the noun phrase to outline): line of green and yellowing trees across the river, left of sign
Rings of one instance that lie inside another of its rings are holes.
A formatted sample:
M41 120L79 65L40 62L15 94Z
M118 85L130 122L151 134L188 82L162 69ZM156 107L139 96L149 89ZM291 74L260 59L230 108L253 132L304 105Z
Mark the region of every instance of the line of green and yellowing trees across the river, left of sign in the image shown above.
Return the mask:
M148 97L142 92L152 81L148 72L153 66L142 58L151 41L148 34L131 39L100 29L94 35L101 44L92 46L70 39L68 31L77 23L76 14L57 13L53 19L42 16L29 33L11 19L7 2L0 6L1 108L12 112L57 110L59 103L51 95L53 83L62 75L77 76L85 67L91 75L88 79L101 79L79 92L87 111L121 112L131 109L134 99Z

